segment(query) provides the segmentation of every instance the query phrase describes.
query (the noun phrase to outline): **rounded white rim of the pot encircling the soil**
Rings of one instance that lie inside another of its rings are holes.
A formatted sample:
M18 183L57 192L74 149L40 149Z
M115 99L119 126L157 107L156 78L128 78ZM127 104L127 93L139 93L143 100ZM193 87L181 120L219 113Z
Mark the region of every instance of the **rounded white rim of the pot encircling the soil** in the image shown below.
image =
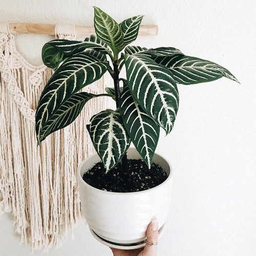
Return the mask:
M135 147L129 147L129 149L130 149L130 148L133 148L133 149L136 150ZM128 149L128 150L129 150L129 149ZM136 150L136 151L137 151L137 150ZM138 154L139 154L139 153L138 153ZM80 165L79 165L79 167L78 167L78 179L80 180L80 182L81 182L84 186L90 187L90 189L94 190L95 192L98 192L98 193L101 193L101 194L105 194L105 195L108 195L108 194L110 194L110 193L111 193L112 195L115 194L115 195L122 195L122 196L124 196L124 195L135 195L134 193L137 193L137 195L143 195L143 194L148 193L148 191L153 191L153 190L159 189L160 186L163 186L163 185L165 185L166 183L171 182L171 181L172 181L172 178L173 178L173 168L172 168L172 165L170 165L169 161L168 161L165 157L163 157L162 155L160 155L160 154L158 154L158 153L156 153L156 152L154 153L154 155L155 155L155 154L158 155L159 157L163 158L163 159L167 162L167 164L169 165L169 168L170 168L170 173L169 173L167 179L166 179L164 182L162 182L161 184L159 184L159 185L157 185L157 186L155 186L155 187L152 187L152 188L150 188L150 189L146 189L146 190L142 190L142 191L135 191L135 192L112 192L112 191L101 190L101 189L99 189L99 188L96 188L96 187L93 187L93 186L89 185L86 181L84 181L84 180L82 179L81 167L82 167L82 165L83 165L86 161L88 161L89 159L91 159L91 158L93 158L93 157L95 157L95 156L98 156L97 153L94 153L93 155L87 157L86 159L84 159L84 160L80 163ZM99 161L101 161L101 159L100 159Z

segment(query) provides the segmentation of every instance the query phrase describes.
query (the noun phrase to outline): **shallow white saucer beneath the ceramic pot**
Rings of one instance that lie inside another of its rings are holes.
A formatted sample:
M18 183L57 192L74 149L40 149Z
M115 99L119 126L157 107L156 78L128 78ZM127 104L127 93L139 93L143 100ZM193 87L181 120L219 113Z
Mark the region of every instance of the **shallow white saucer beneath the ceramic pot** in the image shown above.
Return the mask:
M144 241L131 243L131 244L121 244L121 243L110 242L98 236L98 234L96 234L90 227L89 229L95 239L97 239L100 243L112 248L122 249L122 250L133 250L133 249L138 249L145 246ZM163 224L162 227L160 227L160 229L158 230L158 239L162 236L164 230L165 230L165 224Z

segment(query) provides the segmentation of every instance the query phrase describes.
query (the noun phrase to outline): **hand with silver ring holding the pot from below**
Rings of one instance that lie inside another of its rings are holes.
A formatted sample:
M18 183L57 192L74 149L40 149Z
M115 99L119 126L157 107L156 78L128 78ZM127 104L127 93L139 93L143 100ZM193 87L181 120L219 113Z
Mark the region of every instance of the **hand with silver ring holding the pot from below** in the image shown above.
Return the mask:
M150 244L158 242L158 221L152 221L146 230L146 241ZM144 248L134 250L121 250L111 248L114 256L157 256L157 246L145 245Z

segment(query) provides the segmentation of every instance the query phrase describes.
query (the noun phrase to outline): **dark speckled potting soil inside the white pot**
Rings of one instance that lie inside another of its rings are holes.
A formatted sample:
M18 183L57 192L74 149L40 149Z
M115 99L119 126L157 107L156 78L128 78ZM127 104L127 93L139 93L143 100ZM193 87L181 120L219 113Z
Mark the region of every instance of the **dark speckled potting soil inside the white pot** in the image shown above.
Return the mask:
M127 163L127 173L122 171L122 164L119 162L105 174L102 162L98 162L82 178L93 187L111 192L142 191L158 186L167 179L166 172L158 164L152 163L148 169L141 159L128 159Z

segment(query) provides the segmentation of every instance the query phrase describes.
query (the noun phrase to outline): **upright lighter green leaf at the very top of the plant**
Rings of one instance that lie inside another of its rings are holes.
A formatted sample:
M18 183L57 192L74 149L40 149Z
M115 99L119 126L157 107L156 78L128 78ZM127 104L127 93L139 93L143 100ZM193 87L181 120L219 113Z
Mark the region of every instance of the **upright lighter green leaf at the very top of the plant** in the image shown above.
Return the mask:
M118 53L124 48L123 31L115 20L94 6L94 28L97 36L104 41L118 58Z

